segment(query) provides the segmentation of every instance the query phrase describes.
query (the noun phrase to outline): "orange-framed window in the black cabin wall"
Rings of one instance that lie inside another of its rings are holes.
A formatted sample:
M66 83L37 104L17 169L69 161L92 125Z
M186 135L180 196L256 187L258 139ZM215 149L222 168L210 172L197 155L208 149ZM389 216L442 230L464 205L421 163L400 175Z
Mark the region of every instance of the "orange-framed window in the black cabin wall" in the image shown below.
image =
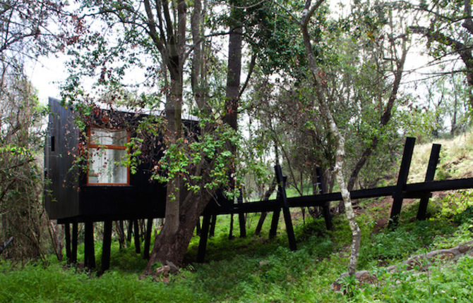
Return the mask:
M126 130L89 128L89 163L87 183L90 185L127 185L128 167L121 161L126 159L129 141Z

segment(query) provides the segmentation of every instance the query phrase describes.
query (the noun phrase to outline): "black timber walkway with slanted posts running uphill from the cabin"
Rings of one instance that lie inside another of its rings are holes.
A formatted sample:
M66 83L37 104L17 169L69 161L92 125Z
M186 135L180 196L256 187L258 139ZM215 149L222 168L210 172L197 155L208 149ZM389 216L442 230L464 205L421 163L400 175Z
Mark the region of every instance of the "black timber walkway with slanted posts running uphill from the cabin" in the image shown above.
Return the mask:
M441 149L440 144L433 144L432 146L431 156L424 182L407 184L409 168L411 165L412 154L414 151L414 144L415 138L407 137L404 152L402 153L402 161L396 185L371 188L368 190L353 190L350 192L350 197L352 199L366 199L373 197L392 196L393 206L390 214L391 228L395 228L398 223L398 219L401 214L403 199L420 199L417 219L425 220L426 209L427 205L429 204L429 198L431 197L432 192L473 188L473 178L442 181L433 180ZM319 169L318 178L319 182L322 184L323 182L321 182L321 175L321 170ZM285 219L287 237L289 240L289 247L292 250L297 249L296 240L294 237L294 229L292 226L292 219L289 212L289 209L291 209L292 207L320 206L323 208L323 216L325 218L325 224L327 228L330 229L332 227L329 203L332 201L342 200L342 194L340 192L324 193L324 191L322 190L320 194L288 198L285 190L285 180L282 175L281 167L279 165L275 166L275 177L278 185L276 199L238 204L222 203L220 207L208 207L208 209L205 209L203 213L203 226L202 230L200 231L200 242L198 247L197 261L202 262L205 259L205 248L208 240L210 217L212 216L215 217L216 215L220 214L248 214L273 211L274 214L271 230L275 230L275 225L277 226L280 211L282 210L282 214Z

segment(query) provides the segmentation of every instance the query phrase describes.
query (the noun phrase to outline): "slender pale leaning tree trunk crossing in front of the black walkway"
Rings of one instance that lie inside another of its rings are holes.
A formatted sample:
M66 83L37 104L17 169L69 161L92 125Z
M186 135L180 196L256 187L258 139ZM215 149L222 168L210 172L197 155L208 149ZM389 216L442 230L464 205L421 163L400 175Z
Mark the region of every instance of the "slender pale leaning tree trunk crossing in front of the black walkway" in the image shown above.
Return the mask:
M352 249L350 254L348 272L350 276L353 276L357 270L357 261L359 254L359 245L361 242L361 231L358 227L357 221L355 221L354 211L352 208L352 200L350 199L350 194L347 189L347 184L345 183L345 175L343 173L343 166L345 163L345 138L342 136L338 130L337 123L333 118L333 114L330 111L328 106L328 101L325 97L325 84L327 81L323 79L322 70L318 69L316 63L316 57L313 54L311 39L309 32L307 30L307 25L313 13L318 9L319 6L323 3L324 0L318 0L315 5L311 7L311 0L306 1L306 6L304 8L302 20L301 20L301 30L304 37L304 46L306 47L306 55L309 59L309 68L313 76L313 82L316 88L316 97L318 103L321 106L322 116L327 121L327 124L330 128L330 132L335 137L337 151L335 155L335 176L337 178L337 183L340 186L340 192L342 193L343 202L345 205L345 216L349 223L350 229L352 230Z

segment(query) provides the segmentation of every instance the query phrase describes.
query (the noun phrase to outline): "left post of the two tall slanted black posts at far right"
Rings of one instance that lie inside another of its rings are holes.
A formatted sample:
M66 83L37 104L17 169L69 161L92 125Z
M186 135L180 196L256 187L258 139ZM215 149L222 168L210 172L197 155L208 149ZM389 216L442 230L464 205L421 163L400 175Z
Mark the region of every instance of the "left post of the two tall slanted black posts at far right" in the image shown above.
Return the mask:
M402 208L402 191L405 190L407 184L407 178L409 177L409 168L411 166L412 152L414 152L414 145L416 138L407 137L404 146L404 152L402 153L401 167L399 175L397 177L397 184L395 191L393 192L393 207L390 215L390 228L395 228L399 221L399 215Z

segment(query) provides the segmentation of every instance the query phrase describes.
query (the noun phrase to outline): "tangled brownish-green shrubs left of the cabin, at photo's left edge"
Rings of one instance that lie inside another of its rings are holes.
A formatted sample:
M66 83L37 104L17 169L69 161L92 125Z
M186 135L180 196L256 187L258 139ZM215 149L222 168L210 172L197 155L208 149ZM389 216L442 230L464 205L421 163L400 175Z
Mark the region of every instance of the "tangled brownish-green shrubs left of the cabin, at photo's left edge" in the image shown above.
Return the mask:
M46 111L23 72L4 68L0 81L0 242L14 240L2 257L44 259L50 247L38 154L44 144L41 123Z

